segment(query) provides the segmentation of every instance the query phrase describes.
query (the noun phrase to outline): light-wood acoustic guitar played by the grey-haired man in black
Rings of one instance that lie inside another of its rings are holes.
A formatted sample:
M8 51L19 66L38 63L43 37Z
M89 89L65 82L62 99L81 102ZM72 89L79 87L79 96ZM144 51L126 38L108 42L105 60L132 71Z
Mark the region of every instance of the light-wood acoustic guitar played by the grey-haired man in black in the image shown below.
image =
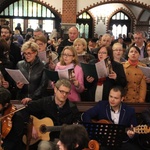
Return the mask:
M60 131L62 126L54 126L52 119L45 117L43 119L38 119L35 116L31 116L33 119L33 125L38 132L38 138L31 138L29 145L33 145L39 140L49 141L50 140L50 132L51 131ZM23 136L24 144L27 144L27 136Z

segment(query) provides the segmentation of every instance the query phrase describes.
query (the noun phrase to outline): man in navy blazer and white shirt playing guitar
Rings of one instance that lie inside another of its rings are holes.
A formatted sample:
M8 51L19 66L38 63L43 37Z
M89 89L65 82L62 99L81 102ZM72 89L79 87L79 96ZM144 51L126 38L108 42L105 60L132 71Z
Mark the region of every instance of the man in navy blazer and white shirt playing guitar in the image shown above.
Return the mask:
M123 103L124 90L119 86L115 86L110 90L109 100L99 101L93 108L87 110L82 115L84 122L92 122L96 117L97 120L107 120L112 124L124 125L131 127L125 134L125 141L121 147L115 147L115 150L142 150L138 144L135 144L135 132L133 126L137 126L135 110ZM122 135L123 136L123 135ZM101 150L112 150L113 147L101 146Z

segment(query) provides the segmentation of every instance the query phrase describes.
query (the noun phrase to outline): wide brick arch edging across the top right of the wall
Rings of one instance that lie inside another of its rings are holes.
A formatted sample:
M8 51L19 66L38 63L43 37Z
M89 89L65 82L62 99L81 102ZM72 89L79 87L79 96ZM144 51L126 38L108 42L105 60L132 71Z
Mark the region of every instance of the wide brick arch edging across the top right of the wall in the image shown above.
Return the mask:
M137 1L137 0L136 1L135 0L103 0L103 1L100 1L97 3L93 3L89 6L87 6L86 8L84 8L83 10L80 10L79 12L77 12L77 16L79 16L83 12L88 11L89 9L94 8L96 6L100 6L103 4L111 4L111 3L132 4L132 5L135 5L138 7L142 7L144 9L148 9L148 10L150 9L150 5L143 3L143 2L140 2L140 0L139 1Z

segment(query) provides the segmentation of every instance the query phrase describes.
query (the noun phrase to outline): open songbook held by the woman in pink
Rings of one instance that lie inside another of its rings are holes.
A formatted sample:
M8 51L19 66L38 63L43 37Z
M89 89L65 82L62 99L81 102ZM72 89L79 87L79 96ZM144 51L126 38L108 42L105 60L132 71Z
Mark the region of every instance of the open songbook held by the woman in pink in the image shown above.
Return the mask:
M74 68L59 70L59 71L52 71L45 69L45 73L49 80L57 82L59 79L71 79L75 76Z

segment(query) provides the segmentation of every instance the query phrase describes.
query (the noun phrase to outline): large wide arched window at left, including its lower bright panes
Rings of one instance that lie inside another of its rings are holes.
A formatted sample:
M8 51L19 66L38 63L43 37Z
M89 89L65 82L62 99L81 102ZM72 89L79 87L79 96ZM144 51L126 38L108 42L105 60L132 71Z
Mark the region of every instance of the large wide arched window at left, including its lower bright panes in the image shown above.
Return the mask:
M42 25L43 30L52 32L55 28L56 17L54 13L47 7L37 2L33 2L32 0L19 0L10 4L0 13L0 17L8 19L12 18L13 31L18 23L21 24L22 30L26 31L26 29L24 29L25 19L28 19L27 27L31 26L33 29Z

